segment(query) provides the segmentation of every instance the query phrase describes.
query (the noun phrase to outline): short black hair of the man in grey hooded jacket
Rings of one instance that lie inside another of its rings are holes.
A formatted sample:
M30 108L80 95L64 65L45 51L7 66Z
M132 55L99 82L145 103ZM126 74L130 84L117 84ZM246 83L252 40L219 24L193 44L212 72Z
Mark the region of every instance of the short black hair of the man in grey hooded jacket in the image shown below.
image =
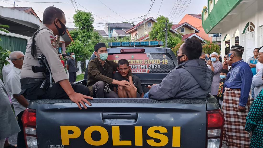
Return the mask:
M183 53L189 60L199 59L202 50L202 44L195 38L186 39L182 48Z

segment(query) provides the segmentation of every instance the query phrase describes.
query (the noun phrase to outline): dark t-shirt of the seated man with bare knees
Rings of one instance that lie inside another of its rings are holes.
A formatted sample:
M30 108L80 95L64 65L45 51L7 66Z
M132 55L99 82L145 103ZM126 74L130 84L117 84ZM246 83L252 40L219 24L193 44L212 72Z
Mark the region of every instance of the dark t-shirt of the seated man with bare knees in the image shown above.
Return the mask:
M123 81L123 80L126 80L129 82L129 80L125 77L123 77L122 75L120 75L119 72L115 72L114 73L114 79L115 80L118 80L118 81ZM143 93L143 88L141 87L141 80L138 76L135 76L135 75L132 75L132 81L133 81L133 84L134 86L137 88L137 92L139 94ZM116 84L113 84L114 87L118 87L118 85Z

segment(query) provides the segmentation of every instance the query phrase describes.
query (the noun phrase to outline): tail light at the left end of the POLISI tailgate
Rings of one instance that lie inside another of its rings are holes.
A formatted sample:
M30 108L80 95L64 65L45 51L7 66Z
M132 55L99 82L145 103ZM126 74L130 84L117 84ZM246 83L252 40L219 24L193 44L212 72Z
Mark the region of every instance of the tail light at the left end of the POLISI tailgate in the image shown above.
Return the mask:
M24 137L27 148L37 148L37 118L36 110L26 109L22 115Z

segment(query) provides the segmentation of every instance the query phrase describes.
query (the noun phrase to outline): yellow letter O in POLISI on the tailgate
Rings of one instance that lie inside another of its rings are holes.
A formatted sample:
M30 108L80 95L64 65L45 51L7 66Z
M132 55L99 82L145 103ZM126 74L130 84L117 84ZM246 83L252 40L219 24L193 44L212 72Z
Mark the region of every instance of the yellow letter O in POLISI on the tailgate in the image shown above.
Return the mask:
M99 141L94 141L91 138L91 133L93 131L100 132L101 138ZM90 126L84 131L84 139L90 145L100 146L100 145L104 145L105 143L107 143L107 141L109 139L109 134L108 134L107 130L101 126Z

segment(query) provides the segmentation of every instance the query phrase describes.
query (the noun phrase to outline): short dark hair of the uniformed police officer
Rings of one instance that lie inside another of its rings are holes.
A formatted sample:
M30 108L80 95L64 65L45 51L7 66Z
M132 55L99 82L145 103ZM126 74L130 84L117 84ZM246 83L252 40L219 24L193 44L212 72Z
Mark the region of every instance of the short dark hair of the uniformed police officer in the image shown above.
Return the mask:
M63 14L64 12L57 7L47 7L43 13L43 24L52 24L56 18L61 19Z

